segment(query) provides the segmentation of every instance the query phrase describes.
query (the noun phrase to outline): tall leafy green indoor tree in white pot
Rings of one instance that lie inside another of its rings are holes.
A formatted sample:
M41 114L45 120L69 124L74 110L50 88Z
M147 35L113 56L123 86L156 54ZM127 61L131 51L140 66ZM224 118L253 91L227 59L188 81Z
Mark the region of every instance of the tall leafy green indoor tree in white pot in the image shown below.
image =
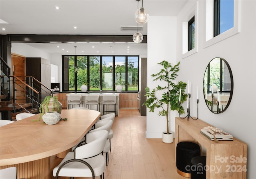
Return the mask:
M152 91L146 87L146 101L144 105L149 108L150 112L154 112L156 108L160 108L158 115L166 116L166 131L163 132L162 141L164 143L173 142L173 132L169 130L169 115L170 111L178 111L178 113L185 113L182 103L186 101L187 95L185 89L187 84L184 82L175 83L178 76L180 62L172 66L167 61L158 63L162 66L162 69L157 74L152 74L153 81L164 82L162 86L158 85ZM158 92L157 92L158 91ZM158 96L159 91L162 91L162 95ZM181 91L181 93L180 93ZM180 103L179 103L180 98Z

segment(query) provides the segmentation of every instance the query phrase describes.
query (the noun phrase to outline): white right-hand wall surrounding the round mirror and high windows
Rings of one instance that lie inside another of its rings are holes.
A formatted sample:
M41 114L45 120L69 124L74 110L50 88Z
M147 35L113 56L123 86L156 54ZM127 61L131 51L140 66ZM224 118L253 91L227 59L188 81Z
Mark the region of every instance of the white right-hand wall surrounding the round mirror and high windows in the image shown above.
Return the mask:
M190 3L190 4L189 4ZM199 118L220 127L248 144L247 178L256 178L256 1L240 1L240 33L204 47L204 1L198 1L198 52L182 59L182 22L192 2L188 2L177 17L177 59L181 60L179 80L191 80L192 99L196 101L196 87L200 87ZM224 113L212 113L204 102L203 76L207 64L215 57L224 58L234 78L234 93ZM192 103L192 116L196 103Z

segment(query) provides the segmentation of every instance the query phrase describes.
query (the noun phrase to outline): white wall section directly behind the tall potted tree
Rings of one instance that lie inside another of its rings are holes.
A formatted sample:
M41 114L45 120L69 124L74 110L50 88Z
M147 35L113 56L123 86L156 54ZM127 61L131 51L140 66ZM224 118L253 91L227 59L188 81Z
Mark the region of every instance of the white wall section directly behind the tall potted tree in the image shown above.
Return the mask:
M160 70L157 63L166 60L176 64L176 17L150 16L147 35L147 86L152 90L158 82L153 82L152 74ZM171 112L170 131L174 131L175 112ZM166 117L158 116L147 109L146 138L161 138L166 131Z

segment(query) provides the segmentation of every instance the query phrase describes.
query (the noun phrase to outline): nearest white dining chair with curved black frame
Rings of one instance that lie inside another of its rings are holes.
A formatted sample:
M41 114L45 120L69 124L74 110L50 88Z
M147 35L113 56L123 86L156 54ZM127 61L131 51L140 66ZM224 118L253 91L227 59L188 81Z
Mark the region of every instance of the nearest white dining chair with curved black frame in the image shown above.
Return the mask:
M108 131L99 130L87 133L86 143L69 152L60 164L53 169L53 176L61 177L92 177L104 179L106 169L104 156L101 154L106 144Z

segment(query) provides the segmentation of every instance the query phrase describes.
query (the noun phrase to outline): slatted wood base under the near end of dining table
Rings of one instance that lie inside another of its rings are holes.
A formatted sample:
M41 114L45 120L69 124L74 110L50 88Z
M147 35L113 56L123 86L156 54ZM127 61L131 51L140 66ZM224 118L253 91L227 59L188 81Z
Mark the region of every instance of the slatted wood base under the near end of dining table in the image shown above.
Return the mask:
M18 179L50 179L52 175L50 173L50 157L26 163L1 166L0 169L8 167L17 168Z

